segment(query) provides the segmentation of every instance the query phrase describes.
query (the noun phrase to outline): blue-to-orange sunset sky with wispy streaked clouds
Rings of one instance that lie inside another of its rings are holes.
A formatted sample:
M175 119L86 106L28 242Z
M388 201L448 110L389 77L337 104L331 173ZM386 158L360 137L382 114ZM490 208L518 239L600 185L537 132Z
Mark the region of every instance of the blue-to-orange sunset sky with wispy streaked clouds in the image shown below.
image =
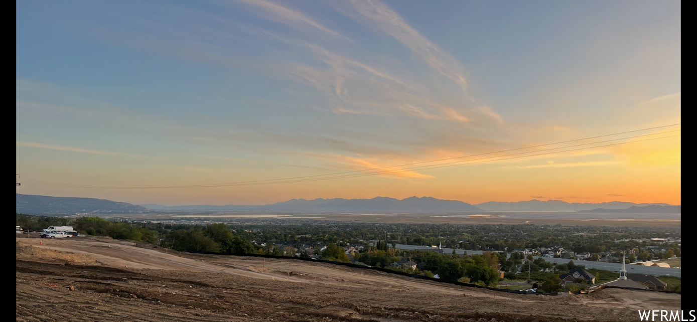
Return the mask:
M17 1L16 42L17 193L681 200L680 1Z

